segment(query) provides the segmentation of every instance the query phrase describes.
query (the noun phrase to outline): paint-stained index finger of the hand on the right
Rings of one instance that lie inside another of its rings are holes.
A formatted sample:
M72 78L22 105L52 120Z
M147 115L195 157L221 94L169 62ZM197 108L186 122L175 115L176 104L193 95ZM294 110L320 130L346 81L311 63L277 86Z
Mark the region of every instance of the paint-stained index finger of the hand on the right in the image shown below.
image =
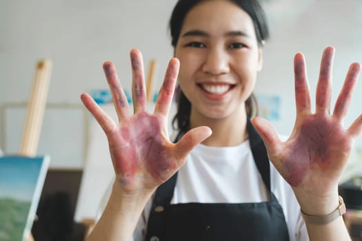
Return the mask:
M296 115L310 114L310 90L303 54L294 56L294 92Z

